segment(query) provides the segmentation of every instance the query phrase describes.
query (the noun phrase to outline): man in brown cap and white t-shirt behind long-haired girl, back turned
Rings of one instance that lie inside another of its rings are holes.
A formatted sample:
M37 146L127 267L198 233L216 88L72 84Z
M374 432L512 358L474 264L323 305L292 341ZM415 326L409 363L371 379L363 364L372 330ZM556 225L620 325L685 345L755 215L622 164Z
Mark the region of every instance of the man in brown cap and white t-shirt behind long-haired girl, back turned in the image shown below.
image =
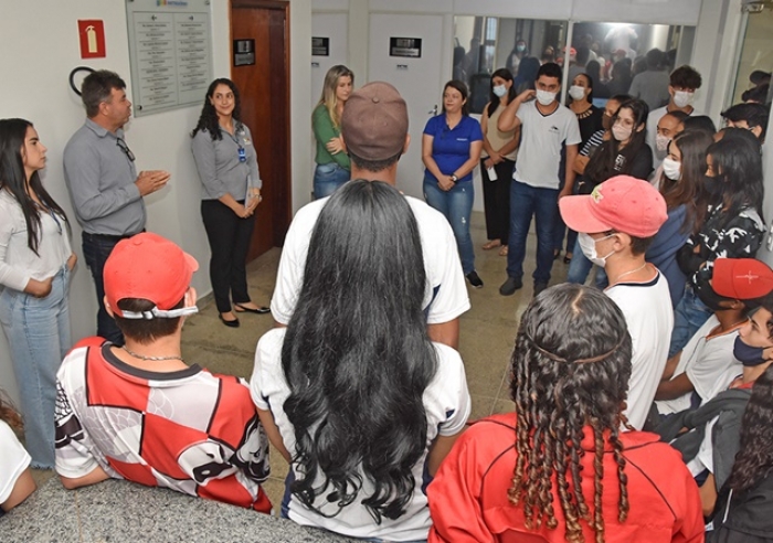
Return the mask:
M341 136L351 158L351 178L396 184L398 161L411 140L407 107L400 93L373 82L352 93L341 116ZM458 348L459 316L469 309L456 239L448 221L425 202L405 196L422 238L427 286L424 308L433 341ZM300 294L314 226L326 198L304 206L293 219L282 251L271 301L274 320L287 326Z

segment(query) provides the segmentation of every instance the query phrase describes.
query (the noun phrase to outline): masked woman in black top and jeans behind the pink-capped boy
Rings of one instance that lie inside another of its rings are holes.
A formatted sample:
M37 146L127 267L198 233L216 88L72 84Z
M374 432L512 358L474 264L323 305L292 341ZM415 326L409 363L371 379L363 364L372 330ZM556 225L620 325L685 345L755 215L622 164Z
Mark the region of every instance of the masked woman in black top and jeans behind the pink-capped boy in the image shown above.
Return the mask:
M591 194L593 189L607 179L625 174L647 179L653 171L653 153L645 143L647 104L629 99L621 104L612 117L611 138L595 150L587 161L578 194ZM593 267L584 257L580 244L574 244L572 260L566 276L568 283L583 284Z

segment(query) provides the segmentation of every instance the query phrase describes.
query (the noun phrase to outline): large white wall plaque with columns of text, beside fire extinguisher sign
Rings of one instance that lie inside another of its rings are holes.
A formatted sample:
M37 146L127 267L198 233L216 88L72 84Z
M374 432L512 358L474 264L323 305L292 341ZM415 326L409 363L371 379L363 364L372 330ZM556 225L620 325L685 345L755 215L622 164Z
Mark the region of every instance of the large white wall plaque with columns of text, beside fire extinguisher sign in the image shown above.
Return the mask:
M126 11L135 116L200 105L212 81L209 1L134 0Z

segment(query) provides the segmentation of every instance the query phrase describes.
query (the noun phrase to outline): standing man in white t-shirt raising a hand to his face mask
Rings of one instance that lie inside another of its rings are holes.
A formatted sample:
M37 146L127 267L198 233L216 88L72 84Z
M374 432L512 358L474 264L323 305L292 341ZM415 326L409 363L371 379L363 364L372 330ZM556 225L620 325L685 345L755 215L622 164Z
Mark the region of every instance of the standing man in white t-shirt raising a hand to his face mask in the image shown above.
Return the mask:
M510 296L523 286L526 236L531 217L537 226L534 296L544 290L553 267L553 227L560 196L574 187L572 164L578 156L580 125L576 116L555 97L561 88L561 67L552 62L537 72L537 91L525 91L499 116L497 127L509 131L521 127L518 162L510 183L510 242L507 280L499 294ZM532 98L536 100L531 100ZM531 102L529 102L531 100ZM561 151L565 148L565 184L559 194Z

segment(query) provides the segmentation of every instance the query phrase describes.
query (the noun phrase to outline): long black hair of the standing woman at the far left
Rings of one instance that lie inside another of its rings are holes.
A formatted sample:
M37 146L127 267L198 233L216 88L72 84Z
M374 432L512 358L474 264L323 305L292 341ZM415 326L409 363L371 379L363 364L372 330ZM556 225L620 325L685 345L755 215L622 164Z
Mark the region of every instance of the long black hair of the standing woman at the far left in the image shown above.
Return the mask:
M67 214L51 198L40 179L39 172L33 172L29 180L24 171L24 158L22 149L27 138L27 129L32 123L25 119L0 119L0 190L7 190L19 202L27 223L27 246L38 255L38 247L42 237L40 214L55 213L67 225ZM41 201L41 207L30 195L34 193ZM40 256L40 255L39 255Z

